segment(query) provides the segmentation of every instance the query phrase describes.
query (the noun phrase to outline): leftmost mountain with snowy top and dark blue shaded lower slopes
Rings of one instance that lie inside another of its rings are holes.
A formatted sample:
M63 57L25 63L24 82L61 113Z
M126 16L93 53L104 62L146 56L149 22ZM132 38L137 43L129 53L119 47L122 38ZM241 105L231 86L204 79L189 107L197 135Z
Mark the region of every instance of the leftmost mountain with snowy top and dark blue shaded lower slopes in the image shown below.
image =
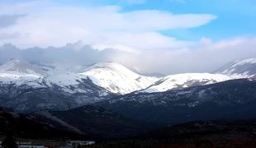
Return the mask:
M111 92L69 69L13 59L0 67L0 103L17 111L73 109Z

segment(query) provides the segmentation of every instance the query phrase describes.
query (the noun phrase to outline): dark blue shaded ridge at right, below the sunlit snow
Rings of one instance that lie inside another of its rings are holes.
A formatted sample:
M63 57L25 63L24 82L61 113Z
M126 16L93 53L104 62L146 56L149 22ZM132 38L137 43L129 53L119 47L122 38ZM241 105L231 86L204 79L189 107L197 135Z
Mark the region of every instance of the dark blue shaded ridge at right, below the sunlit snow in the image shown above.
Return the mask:
M231 80L160 93L122 95L95 105L149 123L254 118L256 81Z

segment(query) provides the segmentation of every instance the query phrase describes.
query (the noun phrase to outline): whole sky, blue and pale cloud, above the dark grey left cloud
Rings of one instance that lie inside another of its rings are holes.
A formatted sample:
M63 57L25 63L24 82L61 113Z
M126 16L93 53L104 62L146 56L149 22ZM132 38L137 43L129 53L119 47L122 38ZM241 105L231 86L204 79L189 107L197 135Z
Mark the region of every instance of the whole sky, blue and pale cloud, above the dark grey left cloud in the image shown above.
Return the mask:
M0 0L0 45L69 43L139 72L212 72L256 56L256 1Z

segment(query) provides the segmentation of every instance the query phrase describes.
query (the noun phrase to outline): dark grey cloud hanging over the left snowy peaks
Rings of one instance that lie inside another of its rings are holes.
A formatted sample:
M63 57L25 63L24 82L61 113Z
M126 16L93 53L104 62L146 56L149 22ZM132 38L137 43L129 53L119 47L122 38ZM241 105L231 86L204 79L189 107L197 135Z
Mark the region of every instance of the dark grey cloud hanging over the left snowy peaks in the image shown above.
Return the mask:
M67 44L64 47L49 47L18 49L12 44L4 44L0 47L0 63L7 62L12 58L25 59L28 62L60 63L64 65L90 65L97 62L114 62L113 57L125 54L115 49L102 51L92 49L85 45L76 49L76 44Z

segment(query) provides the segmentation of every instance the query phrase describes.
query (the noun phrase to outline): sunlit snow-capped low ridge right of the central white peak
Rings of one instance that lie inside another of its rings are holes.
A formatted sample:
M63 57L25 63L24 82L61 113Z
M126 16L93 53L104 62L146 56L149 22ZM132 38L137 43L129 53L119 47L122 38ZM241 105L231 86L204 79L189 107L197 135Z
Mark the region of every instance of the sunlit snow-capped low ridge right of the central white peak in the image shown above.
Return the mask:
M182 89L191 86L204 86L220 81L230 80L230 76L211 73L184 73L169 75L157 81L154 85L140 92L163 92L167 90Z

